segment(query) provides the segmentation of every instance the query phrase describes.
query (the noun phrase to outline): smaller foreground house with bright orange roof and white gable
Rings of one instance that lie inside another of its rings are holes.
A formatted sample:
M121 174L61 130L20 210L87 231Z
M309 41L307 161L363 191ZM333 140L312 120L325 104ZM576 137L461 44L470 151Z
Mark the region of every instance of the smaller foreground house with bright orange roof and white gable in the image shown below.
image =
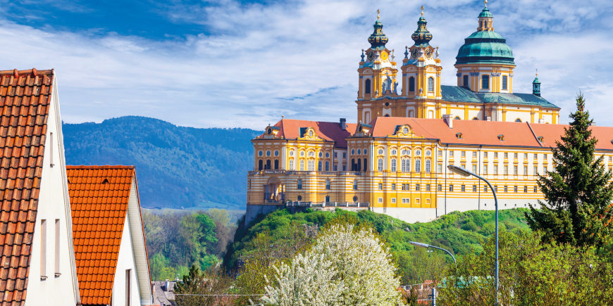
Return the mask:
M83 305L152 305L133 166L68 166Z

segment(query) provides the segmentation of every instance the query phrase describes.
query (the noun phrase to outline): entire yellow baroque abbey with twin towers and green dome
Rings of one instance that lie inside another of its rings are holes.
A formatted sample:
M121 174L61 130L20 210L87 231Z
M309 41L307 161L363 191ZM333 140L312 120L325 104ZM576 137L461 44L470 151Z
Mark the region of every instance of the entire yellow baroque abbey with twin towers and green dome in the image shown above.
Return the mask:
M543 198L536 179L552 170L550 148L566 127L560 108L540 96L538 77L532 93L513 91L512 49L487 6L459 46L455 86L440 84L426 25L422 11L399 73L376 20L357 70L357 123L283 119L252 140L247 222L297 205L369 208L407 222L494 208L488 186L447 165L488 179L502 209ZM613 167L613 127L592 129Z

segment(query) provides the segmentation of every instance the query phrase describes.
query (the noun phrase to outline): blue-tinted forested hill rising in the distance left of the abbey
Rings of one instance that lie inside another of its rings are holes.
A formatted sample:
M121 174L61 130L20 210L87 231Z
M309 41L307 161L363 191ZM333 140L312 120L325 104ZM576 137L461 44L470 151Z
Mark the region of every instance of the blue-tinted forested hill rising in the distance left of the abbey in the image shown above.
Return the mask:
M135 165L145 208L244 209L253 165L250 139L258 134L135 116L63 124L66 163Z

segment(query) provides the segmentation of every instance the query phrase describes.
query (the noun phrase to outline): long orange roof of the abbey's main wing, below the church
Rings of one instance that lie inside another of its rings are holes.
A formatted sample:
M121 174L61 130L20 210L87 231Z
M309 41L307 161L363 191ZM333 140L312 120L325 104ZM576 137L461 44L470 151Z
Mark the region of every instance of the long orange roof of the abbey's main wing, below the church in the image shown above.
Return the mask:
M370 135L385 137L394 134L399 125L409 125L417 136L438 139L441 144L484 146L531 146L545 148L555 146L568 125L549 125L527 122L497 122L483 120L453 120L452 127L442 119L418 119L406 117L377 117L372 123ZM597 150L613 150L613 127L591 127L598 139ZM533 133L534 132L534 133ZM462 133L462 138L457 134ZM498 136L504 135L504 140ZM543 143L538 137L543 136Z

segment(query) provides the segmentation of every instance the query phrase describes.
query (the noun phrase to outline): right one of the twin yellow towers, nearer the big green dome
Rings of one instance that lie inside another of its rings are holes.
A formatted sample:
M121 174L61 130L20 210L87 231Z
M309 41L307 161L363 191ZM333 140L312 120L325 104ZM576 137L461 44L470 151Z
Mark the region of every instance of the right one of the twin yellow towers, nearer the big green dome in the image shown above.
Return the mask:
M402 96L407 98L431 98L440 99L440 58L438 48L430 45L432 34L426 25L428 22L423 18L423 6L421 16L417 20L417 30L411 35L413 46L405 47L404 60L402 60ZM419 109L407 110L409 117L426 117Z

